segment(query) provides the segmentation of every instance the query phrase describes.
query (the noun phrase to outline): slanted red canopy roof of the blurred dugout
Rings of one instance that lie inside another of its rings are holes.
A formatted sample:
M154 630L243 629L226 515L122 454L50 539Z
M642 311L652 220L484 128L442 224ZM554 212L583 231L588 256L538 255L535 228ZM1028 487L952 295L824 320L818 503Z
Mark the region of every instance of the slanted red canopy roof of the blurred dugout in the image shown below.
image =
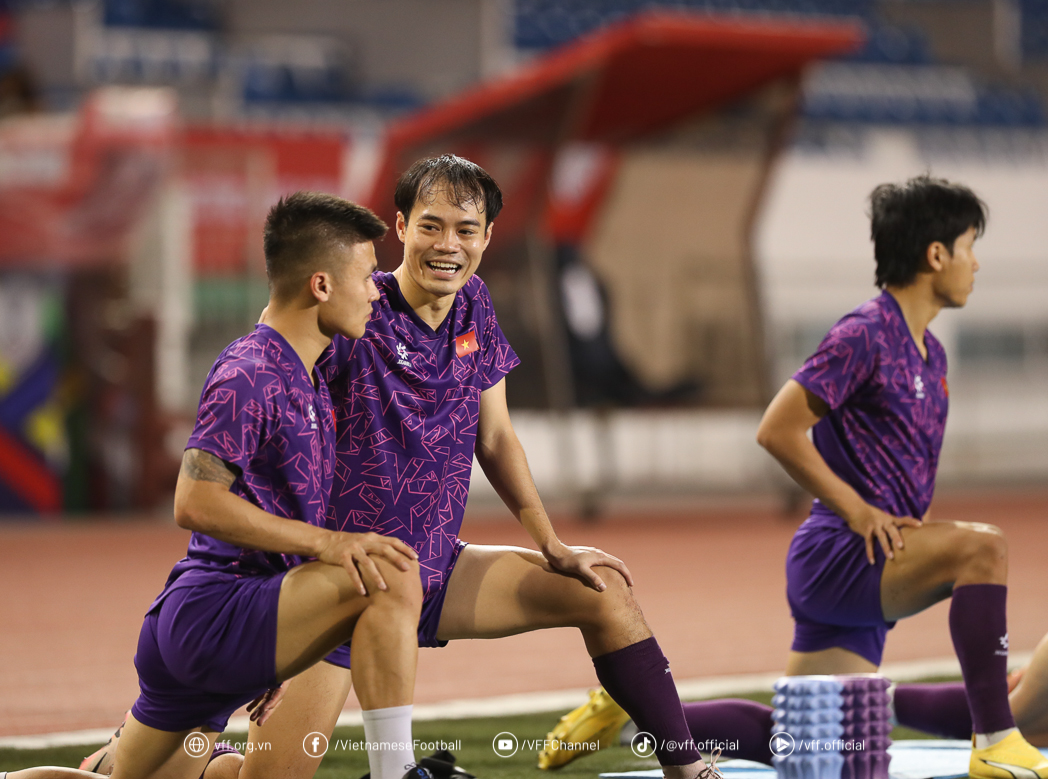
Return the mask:
M528 169L531 189L536 168L564 143L638 139L795 77L812 60L851 50L863 38L858 23L844 21L639 15L395 124L371 202L391 217L396 177L418 157L441 152L484 165L478 157L489 160L497 148L530 150L539 156L522 166L518 153L510 173ZM515 192L512 180L492 172L515 195L500 219L504 236L505 222L524 221L514 219L511 210L536 213L534 203Z

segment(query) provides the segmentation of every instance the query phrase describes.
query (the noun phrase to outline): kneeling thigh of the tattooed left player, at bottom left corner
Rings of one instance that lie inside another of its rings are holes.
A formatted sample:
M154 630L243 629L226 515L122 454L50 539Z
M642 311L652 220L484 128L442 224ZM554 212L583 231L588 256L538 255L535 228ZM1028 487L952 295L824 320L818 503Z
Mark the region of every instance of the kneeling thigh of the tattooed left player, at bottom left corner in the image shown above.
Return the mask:
M206 740L199 749L189 740L195 732ZM203 729L158 731L143 724L132 714L116 744L112 779L198 779L208 765L216 736L214 731Z

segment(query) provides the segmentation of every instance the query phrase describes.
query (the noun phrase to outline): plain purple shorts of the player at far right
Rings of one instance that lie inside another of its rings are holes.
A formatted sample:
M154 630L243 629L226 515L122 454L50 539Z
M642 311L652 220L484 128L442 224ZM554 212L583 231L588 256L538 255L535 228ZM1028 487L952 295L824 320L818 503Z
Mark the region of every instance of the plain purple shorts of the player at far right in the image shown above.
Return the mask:
M813 513L798 528L786 556L794 652L839 647L880 665L895 623L880 608L885 553L874 551L870 565L863 537L834 514Z

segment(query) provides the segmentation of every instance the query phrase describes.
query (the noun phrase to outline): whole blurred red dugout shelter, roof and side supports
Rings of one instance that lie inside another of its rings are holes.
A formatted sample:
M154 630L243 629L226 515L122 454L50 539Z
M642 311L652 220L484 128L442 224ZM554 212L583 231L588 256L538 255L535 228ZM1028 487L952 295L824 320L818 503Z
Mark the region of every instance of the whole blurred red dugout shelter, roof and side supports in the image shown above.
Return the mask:
M615 210L616 183L621 187L624 181L617 172L624 157L652 143L664 145L674 133L708 136L711 123L716 124L718 116L745 114L745 131L760 136L744 151L752 160L748 178L740 181L727 175L717 185L743 189L739 204L726 215L697 208L690 218L693 235L724 231L725 225L734 235L737 245L722 252L716 262L729 267L736 277L732 291L738 304L734 315L711 326L734 327L750 344L738 364L728 361L723 366L723 376L705 366L711 370L702 377L709 390L704 399L720 406L759 404L766 399L767 387L748 251L750 221L782 131L795 112L803 69L813 60L857 47L863 38L858 25L842 22L664 13L634 17L568 44L506 79L470 89L394 125L371 204L392 222L393 182L424 155L454 152L493 173L503 187L506 205L488 250L484 278L515 347L519 352L532 352L537 358L532 364L542 365L541 377L536 371L530 382L516 378L510 401L517 406L568 408L575 397L558 315L552 239L583 237L593 219L609 218ZM551 175L559 154L577 144L604 149L604 172L594 177L589 193L561 208L550 188ZM695 186L702 187L700 182ZM663 245L672 225L660 218L657 203L632 201L627 193L621 208L627 218L643 221L646 232L652 234L639 251L655 255L680 251L672 240ZM386 266L394 262L395 252L394 242L387 241L381 251ZM619 254L606 257L605 264L636 263L637 259L635 254ZM673 283L672 274L668 278ZM610 285L612 303L620 313L629 308L623 302L629 293L621 287L631 284L636 282L624 282L618 289ZM522 295L523 289L530 293ZM620 329L630 327L619 325ZM641 320L637 325L643 329L645 323Z

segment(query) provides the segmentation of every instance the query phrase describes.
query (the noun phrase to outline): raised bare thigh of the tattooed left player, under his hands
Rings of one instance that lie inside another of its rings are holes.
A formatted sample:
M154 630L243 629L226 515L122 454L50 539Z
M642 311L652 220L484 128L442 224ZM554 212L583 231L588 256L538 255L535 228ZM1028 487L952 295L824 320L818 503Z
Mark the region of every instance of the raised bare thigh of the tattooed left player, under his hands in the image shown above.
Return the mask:
M372 557L388 586L362 596L341 566L321 562L291 568L280 588L277 609L277 675L288 678L326 656L353 635L353 627L370 605L392 604L409 621L418 622L422 603L418 563L400 570Z

